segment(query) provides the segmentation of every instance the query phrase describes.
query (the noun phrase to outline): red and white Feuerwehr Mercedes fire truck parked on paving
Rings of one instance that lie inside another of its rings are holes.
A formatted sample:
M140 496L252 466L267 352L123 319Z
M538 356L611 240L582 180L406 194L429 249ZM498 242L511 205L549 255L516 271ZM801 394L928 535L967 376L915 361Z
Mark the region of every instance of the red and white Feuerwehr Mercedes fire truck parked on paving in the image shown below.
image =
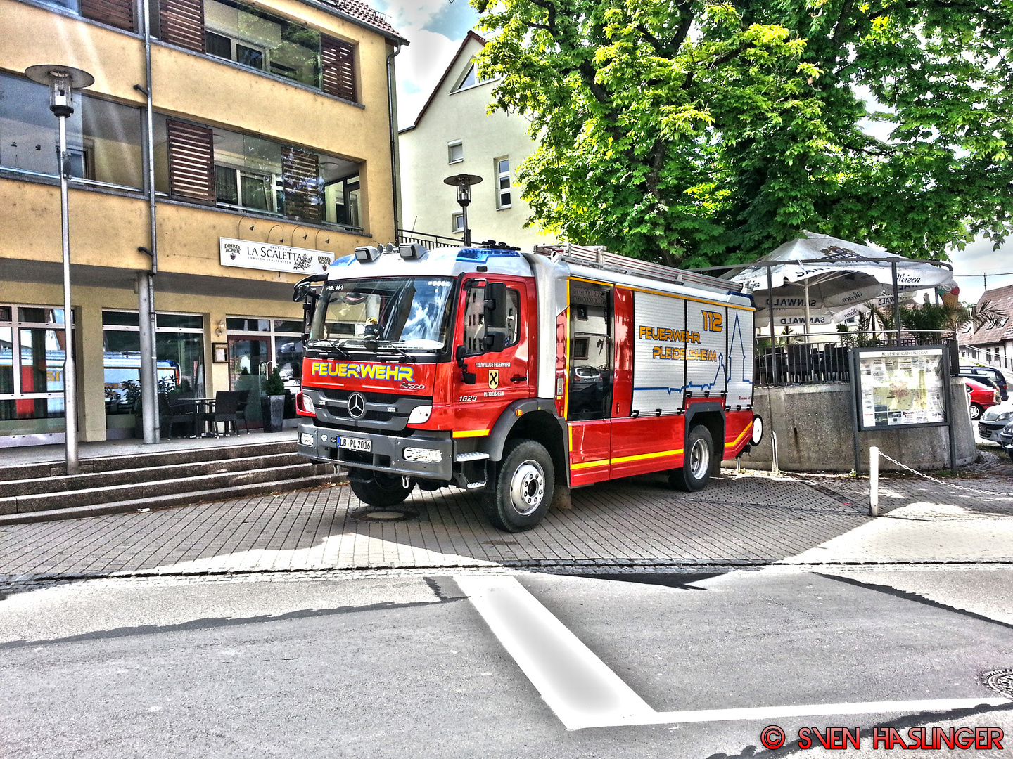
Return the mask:
M296 285L299 450L383 507L481 490L529 529L570 488L646 473L703 488L760 440L752 298L572 246L363 247Z

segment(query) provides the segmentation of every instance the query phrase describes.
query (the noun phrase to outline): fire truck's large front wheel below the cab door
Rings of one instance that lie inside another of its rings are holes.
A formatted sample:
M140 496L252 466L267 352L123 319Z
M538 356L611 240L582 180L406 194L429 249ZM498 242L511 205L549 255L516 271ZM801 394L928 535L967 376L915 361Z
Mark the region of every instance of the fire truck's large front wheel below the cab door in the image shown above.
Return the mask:
M508 441L494 473L484 499L492 526L523 532L542 521L556 485L552 457L545 446L523 437Z

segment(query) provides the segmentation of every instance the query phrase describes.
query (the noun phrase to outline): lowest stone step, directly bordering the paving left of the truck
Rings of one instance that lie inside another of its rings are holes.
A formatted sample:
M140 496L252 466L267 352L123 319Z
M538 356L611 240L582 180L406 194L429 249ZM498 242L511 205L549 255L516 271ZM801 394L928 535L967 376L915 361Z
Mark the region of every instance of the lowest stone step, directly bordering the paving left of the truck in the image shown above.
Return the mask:
M25 524L28 522L49 522L60 519L81 519L88 516L119 514L123 512L148 509L156 511L159 509L188 506L197 503L212 503L215 501L251 498L267 493L288 493L293 490L307 490L342 481L343 478L336 475L317 474L311 477L298 477L289 480L249 483L247 485L236 485L227 488L212 488L209 490L193 490L186 493L175 493L168 496L131 498L122 501L92 504L88 506L71 506L63 509L45 509L43 511L29 511L23 514L6 514L0 515L0 524Z

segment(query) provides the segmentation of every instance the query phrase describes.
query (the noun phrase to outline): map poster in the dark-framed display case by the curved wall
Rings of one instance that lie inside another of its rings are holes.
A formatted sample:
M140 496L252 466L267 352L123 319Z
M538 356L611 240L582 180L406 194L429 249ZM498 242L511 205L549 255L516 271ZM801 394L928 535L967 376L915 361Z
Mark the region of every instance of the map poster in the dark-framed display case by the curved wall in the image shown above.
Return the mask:
M852 356L859 430L948 424L944 346L855 348Z

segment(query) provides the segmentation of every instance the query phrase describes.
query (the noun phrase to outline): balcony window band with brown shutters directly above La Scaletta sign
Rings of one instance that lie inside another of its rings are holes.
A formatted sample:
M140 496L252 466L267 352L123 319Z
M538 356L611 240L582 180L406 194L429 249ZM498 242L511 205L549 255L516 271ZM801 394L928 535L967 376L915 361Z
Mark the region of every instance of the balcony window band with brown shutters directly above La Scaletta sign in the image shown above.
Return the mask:
M155 188L175 199L362 229L354 161L161 114L155 154Z

